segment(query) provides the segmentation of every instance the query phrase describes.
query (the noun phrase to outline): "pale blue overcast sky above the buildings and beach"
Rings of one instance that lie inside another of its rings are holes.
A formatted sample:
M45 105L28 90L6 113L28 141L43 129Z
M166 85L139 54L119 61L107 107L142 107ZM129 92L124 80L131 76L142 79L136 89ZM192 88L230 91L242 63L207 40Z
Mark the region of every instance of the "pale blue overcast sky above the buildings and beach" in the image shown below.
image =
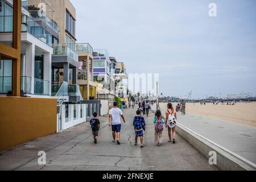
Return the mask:
M128 73L159 73L164 96L256 95L256 1L71 2L77 43L108 49Z

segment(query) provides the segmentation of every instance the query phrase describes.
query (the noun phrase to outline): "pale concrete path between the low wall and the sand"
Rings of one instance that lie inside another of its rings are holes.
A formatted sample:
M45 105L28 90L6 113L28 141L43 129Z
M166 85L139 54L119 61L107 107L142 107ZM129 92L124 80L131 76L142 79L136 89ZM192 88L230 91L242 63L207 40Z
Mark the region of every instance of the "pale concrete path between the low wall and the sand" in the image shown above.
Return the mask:
M165 108L161 108L162 114ZM209 140L256 163L256 129L237 123L178 113L177 122Z

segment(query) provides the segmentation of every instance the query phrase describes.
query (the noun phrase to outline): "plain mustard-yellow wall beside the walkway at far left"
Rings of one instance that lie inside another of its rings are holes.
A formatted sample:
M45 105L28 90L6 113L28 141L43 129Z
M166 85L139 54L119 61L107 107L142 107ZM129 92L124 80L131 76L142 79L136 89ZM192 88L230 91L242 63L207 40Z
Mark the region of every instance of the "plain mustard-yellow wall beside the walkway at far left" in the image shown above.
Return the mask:
M0 151L56 133L56 99L0 97Z

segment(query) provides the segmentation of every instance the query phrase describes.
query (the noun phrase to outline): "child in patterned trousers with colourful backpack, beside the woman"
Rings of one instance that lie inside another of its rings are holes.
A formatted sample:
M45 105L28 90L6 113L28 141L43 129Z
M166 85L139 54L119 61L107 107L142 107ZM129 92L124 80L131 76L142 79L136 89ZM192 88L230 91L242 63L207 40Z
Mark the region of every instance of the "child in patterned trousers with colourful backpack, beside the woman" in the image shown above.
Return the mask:
M162 144L164 123L160 110L156 111L153 123L155 124L155 142L158 142L158 146L160 146Z

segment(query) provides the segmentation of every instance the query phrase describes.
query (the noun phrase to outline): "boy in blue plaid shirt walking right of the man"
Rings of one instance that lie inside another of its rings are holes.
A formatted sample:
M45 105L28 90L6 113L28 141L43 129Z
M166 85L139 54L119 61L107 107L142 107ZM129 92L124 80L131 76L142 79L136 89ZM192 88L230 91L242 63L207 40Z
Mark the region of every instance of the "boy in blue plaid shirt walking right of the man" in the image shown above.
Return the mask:
M135 146L137 146L138 137L141 138L141 148L143 148L143 130L146 130L146 123L144 117L141 116L141 111L136 111L137 116L133 119L133 126L135 130Z

